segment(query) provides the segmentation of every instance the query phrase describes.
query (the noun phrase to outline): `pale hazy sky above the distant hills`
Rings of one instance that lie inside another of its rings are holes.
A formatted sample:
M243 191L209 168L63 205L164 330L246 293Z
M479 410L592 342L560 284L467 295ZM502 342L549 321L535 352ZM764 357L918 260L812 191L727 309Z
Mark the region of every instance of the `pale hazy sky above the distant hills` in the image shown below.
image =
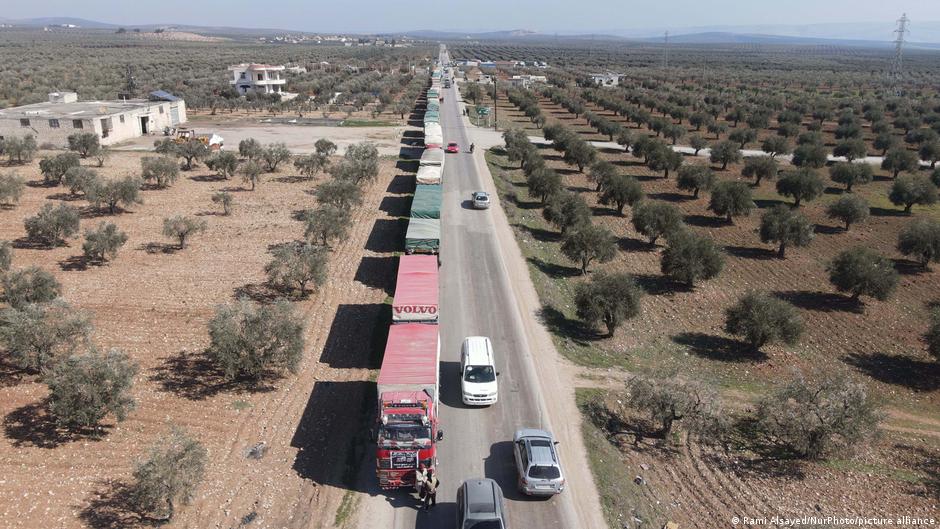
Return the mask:
M115 24L191 24L311 32L415 29L543 33L766 24L940 21L940 0L4 0L0 17L79 17ZM780 8L771 10L768 6ZM916 27L916 26L915 26ZM887 39L886 39L887 40Z

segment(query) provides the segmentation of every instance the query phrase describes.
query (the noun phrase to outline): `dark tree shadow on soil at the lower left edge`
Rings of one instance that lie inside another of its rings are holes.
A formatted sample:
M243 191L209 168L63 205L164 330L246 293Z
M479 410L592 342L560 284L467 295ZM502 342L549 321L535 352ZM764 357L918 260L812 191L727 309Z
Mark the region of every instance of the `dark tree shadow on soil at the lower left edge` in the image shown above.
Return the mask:
M4 435L16 448L56 448L75 440L101 440L110 426L66 430L60 428L49 412L49 399L25 404L3 418Z

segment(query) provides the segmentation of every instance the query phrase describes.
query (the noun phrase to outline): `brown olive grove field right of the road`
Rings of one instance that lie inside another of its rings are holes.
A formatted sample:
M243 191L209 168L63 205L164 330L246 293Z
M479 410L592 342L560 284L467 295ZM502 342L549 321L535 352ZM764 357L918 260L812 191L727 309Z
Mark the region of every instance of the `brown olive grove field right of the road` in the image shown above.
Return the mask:
M706 51L703 77L697 61ZM497 101L501 128L548 143L529 147L507 132L506 149L487 159L543 322L581 375L585 442L611 527L713 527L754 512L936 511L940 363L925 335L938 317L940 275L936 250L920 256L899 237L915 224L940 236L940 173L931 167L940 158L931 77L940 56L917 56L897 96L885 90L887 59L877 52L680 48L670 50L670 70L642 47L457 46L454 55L554 66L543 71L548 85L500 83ZM584 75L602 68L623 72L621 86L590 86ZM492 85L483 88L461 85L468 103L491 106ZM669 154L673 145L684 154ZM918 198L904 198L909 184L921 189ZM849 199L865 214L846 229L831 211ZM765 217L790 222L783 255ZM703 264L714 269L698 270L693 283L682 267L666 273L664 265L689 240L720 262ZM838 256L853 248L881 256L886 293L853 298L831 282ZM626 283L610 282L619 274ZM601 293L590 293L594 283ZM579 302L601 303L605 290L619 296L604 301L620 307L609 327L609 311ZM749 342L740 325L732 328L728 311L755 292L751 303L787 314L799 331L778 327L776 339ZM779 401L785 383L802 380L797 374L810 386L830 377L824 387L861 391L877 408L877 434L864 428L856 432L864 442L810 456L779 431L761 430L774 409L767 399ZM655 401L641 399L653 391L644 380L679 388L660 398L711 395L700 402L718 399L732 424L716 433L677 420L662 438L649 415Z

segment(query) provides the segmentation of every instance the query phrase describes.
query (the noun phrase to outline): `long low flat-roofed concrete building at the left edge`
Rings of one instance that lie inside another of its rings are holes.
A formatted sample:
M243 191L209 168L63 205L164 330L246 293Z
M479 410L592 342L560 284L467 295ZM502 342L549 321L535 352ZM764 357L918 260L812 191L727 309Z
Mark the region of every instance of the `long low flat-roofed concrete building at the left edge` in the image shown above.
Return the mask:
M79 101L75 92L53 92L45 103L0 109L0 138L32 134L40 144L65 146L71 134L94 132L102 145L111 145L185 122L186 102L163 91L119 101Z

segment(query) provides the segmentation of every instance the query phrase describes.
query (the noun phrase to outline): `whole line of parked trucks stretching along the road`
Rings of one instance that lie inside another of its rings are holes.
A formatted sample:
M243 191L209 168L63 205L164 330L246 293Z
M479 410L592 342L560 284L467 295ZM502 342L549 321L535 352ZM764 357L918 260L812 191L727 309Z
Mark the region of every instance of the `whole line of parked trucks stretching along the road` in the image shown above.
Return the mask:
M425 150L415 177L405 254L399 257L392 325L376 381L375 470L383 489L414 486L419 466L437 466L441 344L438 260L441 236L441 70L431 73L424 117Z

